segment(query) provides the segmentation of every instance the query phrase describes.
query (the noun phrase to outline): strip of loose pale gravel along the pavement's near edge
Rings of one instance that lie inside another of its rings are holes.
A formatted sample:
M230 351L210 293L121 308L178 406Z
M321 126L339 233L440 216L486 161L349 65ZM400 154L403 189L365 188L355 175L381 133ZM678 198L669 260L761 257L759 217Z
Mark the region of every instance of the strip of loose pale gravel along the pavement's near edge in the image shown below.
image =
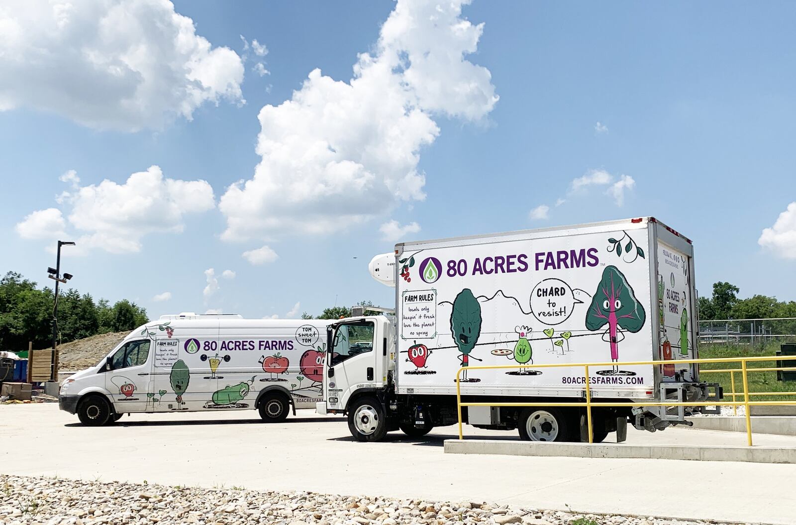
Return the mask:
M392 500L245 488L187 488L0 476L7 525L697 525L706 521L582 515L483 502Z

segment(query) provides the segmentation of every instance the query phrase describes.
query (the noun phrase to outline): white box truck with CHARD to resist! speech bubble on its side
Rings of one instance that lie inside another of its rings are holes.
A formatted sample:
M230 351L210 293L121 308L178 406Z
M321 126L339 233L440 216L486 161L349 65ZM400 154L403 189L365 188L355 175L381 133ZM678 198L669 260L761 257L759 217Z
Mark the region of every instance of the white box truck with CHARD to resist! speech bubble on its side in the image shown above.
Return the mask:
M464 402L583 401L582 366L533 368L583 362L612 363L591 367L595 401L720 398L693 364L622 364L696 358L693 245L654 218L400 243L370 271L395 285L395 315L327 327L317 407L347 414L360 441L396 429L417 437L457 422L459 367L517 366L463 370ZM594 439L618 430L621 441L627 422L650 431L687 424L692 410L702 409L596 408ZM518 429L534 441L579 441L583 414L462 408L470 425Z

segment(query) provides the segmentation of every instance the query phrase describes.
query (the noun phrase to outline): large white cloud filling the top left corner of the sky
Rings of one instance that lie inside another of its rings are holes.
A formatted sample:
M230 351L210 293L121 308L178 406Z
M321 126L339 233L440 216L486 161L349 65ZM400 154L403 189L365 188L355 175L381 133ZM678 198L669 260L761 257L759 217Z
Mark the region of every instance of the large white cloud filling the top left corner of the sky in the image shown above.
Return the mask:
M0 72L0 111L97 128L160 129L207 102L244 102L240 57L168 0L4 0Z

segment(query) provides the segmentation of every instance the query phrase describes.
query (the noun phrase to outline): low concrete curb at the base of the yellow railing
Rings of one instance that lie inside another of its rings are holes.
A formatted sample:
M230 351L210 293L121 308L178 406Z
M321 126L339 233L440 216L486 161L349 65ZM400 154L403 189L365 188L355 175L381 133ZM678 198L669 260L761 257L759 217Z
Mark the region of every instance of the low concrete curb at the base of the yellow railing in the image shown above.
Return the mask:
M589 443L539 443L505 440L445 440L446 454L498 454L501 456L571 456L657 460L747 461L796 463L796 448L700 447L690 445L612 445Z

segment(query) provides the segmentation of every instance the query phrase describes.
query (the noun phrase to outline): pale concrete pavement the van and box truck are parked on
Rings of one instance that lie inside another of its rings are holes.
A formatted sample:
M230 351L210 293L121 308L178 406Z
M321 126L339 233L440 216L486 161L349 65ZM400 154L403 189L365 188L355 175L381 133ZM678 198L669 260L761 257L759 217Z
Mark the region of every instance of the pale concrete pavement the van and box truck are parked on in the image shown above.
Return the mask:
M466 435L517 433L466 427ZM0 406L0 472L168 485L472 500L587 512L794 523L796 465L444 454L455 427L427 440L358 443L341 418L299 410L278 425L255 411L123 417L87 428L54 404ZM668 429L628 441L740 445L740 433ZM789 439L761 437L760 444ZM790 438L793 442L793 438Z

